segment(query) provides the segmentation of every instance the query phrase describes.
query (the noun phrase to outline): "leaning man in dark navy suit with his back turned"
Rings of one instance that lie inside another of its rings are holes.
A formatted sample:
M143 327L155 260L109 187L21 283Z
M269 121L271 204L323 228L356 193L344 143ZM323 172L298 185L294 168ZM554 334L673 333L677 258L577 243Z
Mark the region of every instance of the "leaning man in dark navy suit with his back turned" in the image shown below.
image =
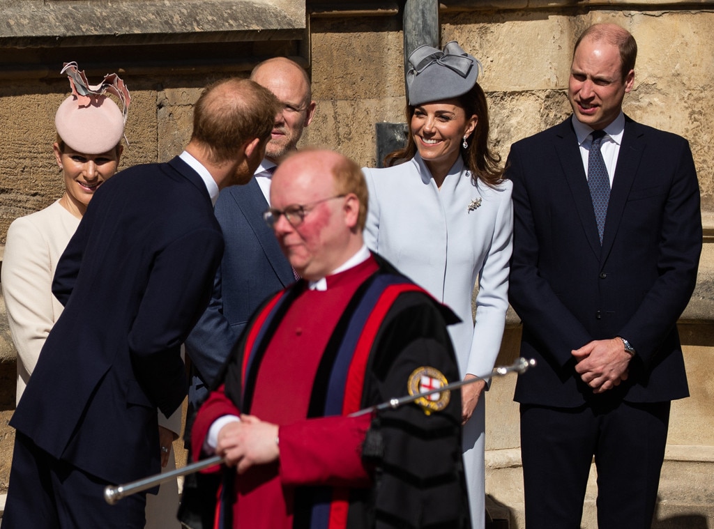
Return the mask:
M64 312L11 420L3 529L144 527L146 496L110 506L104 486L159 472L156 408L171 415L186 395L180 346L223 254L212 201L250 180L277 109L253 81L221 81L196 102L181 156L96 192L57 266Z

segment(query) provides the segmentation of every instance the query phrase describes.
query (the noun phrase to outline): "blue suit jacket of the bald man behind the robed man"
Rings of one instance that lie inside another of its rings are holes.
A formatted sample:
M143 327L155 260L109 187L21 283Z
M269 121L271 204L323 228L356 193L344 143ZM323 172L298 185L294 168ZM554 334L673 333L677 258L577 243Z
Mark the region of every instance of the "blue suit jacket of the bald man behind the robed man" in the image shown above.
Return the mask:
M253 311L272 293L295 281L273 231L263 221L268 208L255 178L218 195L216 218L226 251L206 312L186 340L193 373L188 400L198 405L218 378Z

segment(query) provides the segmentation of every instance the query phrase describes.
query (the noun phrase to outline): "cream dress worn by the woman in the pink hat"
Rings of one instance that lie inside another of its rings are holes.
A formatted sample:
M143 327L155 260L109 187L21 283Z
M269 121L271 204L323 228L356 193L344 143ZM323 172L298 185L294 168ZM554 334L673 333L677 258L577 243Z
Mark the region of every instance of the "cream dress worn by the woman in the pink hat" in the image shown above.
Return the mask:
M57 262L79 226L79 218L59 201L31 215L17 218L7 231L2 263L2 291L17 351L17 392L19 402L37 363L40 351L62 312L52 294L52 279ZM87 315L91 325L91 314ZM170 418L159 412L159 424L181 433L181 409ZM165 471L176 468L171 451ZM164 483L158 495L146 497L146 529L179 529L178 485Z

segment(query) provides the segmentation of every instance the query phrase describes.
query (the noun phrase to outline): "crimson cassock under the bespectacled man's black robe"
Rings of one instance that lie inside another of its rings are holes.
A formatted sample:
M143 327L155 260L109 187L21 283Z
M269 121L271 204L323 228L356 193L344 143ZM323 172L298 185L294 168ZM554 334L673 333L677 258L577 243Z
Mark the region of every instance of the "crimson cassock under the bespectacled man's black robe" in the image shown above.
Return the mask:
M338 319L358 286L377 271L372 259L327 278L326 291L305 290L288 309L265 356L253 391L251 415L280 425L280 464L255 467L236 481L233 527L291 529L293 485L370 485L361 443L370 423L359 418L306 420L318 364ZM206 436L214 420L239 415L223 392L201 407L193 435ZM194 445L193 453L199 453Z

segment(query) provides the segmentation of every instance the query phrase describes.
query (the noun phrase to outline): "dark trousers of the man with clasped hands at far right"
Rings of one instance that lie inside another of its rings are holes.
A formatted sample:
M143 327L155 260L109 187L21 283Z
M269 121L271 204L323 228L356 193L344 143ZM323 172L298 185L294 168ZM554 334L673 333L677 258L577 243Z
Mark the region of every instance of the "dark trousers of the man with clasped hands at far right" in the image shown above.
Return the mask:
M521 404L526 529L578 529L590 463L598 471L598 527L649 529L670 403L580 408Z

